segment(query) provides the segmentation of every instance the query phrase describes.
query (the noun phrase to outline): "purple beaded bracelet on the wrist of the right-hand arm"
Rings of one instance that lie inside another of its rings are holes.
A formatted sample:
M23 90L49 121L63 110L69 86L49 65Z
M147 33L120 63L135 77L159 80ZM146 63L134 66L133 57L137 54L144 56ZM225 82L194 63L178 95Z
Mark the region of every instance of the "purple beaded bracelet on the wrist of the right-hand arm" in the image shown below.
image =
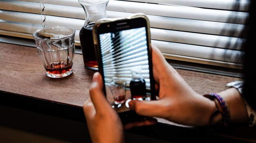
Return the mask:
M215 115L217 115L218 113L220 113L222 115L222 124L227 127L230 121L230 112L229 112L229 107L227 105L227 102L225 99L223 99L220 95L218 95L217 93L210 93L210 94L206 94L204 95L204 97L209 98L210 100L214 100L215 104L216 104L216 110L213 112L213 114L211 115L210 119L209 119L209 126L211 126L211 122L212 119ZM218 102L220 103L222 112L220 112L220 110L218 109L218 104L216 103L216 100L218 100Z

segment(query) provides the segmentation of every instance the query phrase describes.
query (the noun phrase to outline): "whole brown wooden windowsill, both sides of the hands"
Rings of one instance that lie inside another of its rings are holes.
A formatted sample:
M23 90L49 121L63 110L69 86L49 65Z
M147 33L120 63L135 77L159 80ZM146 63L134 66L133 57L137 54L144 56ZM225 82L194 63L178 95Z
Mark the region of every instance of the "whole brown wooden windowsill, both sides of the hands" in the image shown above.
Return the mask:
M84 67L81 54L74 56L73 73L65 78L56 79L45 75L45 69L36 48L0 43L0 59L1 93L11 93L77 108L82 108L83 102L89 98L90 83L95 71ZM177 72L202 95L220 92L226 83L240 80L240 78L182 69L177 69ZM6 94L0 94L0 96L3 95ZM182 126L164 119L158 121L166 126Z

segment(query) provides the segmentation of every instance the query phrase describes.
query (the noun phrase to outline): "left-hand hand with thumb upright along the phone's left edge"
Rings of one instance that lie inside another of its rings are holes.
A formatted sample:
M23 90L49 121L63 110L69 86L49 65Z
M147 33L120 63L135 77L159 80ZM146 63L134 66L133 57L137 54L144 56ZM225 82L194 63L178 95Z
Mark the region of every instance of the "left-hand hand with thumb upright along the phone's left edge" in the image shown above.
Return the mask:
M83 104L85 119L94 143L124 142L124 129L117 112L103 93L101 75L96 72L90 87L90 99Z

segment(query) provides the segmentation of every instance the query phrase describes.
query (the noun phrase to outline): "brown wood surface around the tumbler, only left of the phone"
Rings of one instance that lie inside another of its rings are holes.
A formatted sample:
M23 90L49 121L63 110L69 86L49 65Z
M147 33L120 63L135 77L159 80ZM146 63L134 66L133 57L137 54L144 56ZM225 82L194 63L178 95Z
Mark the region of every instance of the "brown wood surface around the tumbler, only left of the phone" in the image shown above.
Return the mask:
M0 90L52 102L83 106L89 97L94 71L75 54L73 73L65 78L45 74L36 48L0 43Z

